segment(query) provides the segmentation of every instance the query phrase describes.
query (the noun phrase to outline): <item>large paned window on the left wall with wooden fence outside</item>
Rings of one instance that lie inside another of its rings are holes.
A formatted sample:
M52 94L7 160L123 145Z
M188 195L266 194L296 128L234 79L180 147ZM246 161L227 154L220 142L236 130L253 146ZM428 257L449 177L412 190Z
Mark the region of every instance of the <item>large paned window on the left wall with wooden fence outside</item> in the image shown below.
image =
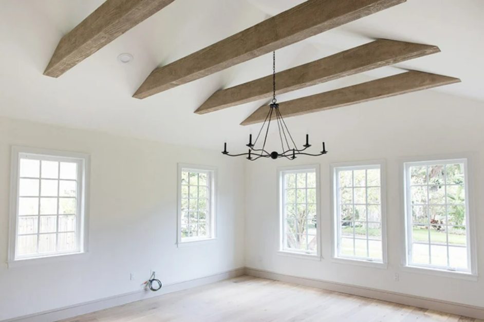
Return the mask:
M9 261L84 252L87 157L12 149Z

